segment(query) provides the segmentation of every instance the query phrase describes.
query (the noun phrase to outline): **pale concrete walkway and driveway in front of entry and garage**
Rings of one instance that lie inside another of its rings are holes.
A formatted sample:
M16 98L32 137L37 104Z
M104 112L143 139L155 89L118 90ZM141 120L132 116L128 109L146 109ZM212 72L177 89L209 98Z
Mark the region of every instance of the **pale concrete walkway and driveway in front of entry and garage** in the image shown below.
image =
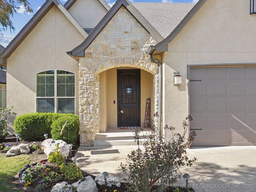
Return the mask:
M80 147L76 156L78 166L95 176L109 172L116 176L127 154L137 146ZM190 185L196 192L255 192L256 146L191 148L188 157L198 161L192 167L180 168L189 173ZM122 174L122 176L124 176ZM184 179L178 185L185 185Z

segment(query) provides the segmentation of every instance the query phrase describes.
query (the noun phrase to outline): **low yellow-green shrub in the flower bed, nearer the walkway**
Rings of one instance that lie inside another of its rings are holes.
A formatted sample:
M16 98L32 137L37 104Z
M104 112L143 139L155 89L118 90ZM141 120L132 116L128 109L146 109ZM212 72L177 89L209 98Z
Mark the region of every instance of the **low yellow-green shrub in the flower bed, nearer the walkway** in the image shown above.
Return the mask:
M60 166L60 172L65 175L68 180L80 179L82 178L82 172L78 169L78 166L74 163L68 163L67 165Z

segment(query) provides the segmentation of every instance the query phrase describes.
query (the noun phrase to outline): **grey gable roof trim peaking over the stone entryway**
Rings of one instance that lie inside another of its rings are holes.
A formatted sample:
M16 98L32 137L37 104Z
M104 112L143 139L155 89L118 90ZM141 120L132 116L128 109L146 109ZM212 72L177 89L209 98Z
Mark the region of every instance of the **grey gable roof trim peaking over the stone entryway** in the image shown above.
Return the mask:
M140 12L128 1L128 0L118 0L114 6L108 11L108 13L102 18L98 25L92 30L89 36L72 51L67 52L72 57L83 57L84 50L90 46L93 40L98 36L98 34L103 30L103 28L108 24L108 22L114 17L118 10L124 6L137 20L140 24L156 39L157 42L163 40L163 37L158 33L158 31L140 14Z

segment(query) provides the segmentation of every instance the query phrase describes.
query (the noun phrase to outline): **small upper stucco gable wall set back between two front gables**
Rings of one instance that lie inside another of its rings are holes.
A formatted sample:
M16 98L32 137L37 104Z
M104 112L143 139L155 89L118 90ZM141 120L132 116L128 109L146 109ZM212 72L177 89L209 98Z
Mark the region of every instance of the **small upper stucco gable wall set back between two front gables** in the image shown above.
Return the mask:
M94 28L107 10L98 0L77 0L68 12L82 28Z

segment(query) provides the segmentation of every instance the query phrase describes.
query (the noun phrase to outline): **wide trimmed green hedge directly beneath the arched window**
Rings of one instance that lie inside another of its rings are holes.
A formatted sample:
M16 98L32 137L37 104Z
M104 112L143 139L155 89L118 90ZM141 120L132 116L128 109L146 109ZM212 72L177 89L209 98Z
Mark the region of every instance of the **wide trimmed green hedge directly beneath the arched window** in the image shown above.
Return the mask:
M78 115L60 113L27 113L18 116L14 120L15 133L20 134L20 139L24 141L44 139L44 134L46 133L48 134L48 138L52 138L52 123L59 118L66 118L67 120L69 116L77 117L79 130ZM78 135L76 135L76 137L78 137Z

